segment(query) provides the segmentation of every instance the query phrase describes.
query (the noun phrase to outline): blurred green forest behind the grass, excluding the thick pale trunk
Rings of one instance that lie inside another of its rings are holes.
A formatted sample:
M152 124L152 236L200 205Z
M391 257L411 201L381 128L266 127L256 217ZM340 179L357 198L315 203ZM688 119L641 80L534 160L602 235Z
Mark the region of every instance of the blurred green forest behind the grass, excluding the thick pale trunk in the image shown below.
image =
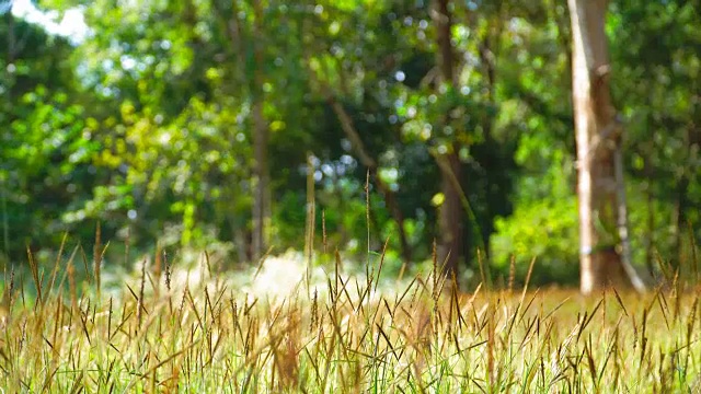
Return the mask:
M235 267L387 242L399 273L452 232L466 283L480 259L522 278L533 256L532 282L576 283L567 4L443 3L452 84L427 0L0 1L0 262L48 259L65 233L101 254L99 223L108 265L157 243ZM631 259L651 277L701 241L699 10L606 14Z

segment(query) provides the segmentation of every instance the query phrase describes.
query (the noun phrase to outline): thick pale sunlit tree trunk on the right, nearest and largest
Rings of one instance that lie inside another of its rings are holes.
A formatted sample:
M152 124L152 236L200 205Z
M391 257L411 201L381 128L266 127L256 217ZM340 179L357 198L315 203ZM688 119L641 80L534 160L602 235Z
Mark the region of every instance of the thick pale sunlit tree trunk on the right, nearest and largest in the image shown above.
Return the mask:
M609 92L608 0L568 0L578 161L581 290L631 285L621 259L616 151L621 125ZM620 179L619 179L620 181ZM620 204L619 204L620 202Z

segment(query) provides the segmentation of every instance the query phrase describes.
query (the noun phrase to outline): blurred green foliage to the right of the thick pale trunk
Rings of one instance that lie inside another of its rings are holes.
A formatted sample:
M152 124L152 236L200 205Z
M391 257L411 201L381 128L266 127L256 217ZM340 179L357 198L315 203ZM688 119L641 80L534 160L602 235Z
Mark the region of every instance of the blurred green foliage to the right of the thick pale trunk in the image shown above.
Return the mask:
M621 74L612 95L625 114L627 158L633 181L631 243L636 260L657 276L657 256L670 264L669 275L696 279L693 244L701 242L701 174L698 127L698 54L701 37L688 26L701 23L693 2L617 1L609 12L616 39L611 57ZM631 32L627 26L639 26ZM630 187L630 186L629 186ZM696 229L696 240L693 230ZM666 270L666 269L665 269Z

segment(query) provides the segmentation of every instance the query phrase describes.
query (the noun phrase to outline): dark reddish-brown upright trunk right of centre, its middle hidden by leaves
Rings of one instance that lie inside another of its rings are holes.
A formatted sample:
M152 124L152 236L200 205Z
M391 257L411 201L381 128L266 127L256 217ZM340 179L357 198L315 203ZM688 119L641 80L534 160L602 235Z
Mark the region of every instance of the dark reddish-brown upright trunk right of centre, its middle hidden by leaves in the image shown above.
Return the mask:
M456 84L455 55L450 43L452 20L448 0L434 0L430 15L436 26L436 44L438 53L436 62L440 69L440 83ZM446 116L447 118L447 116ZM440 190L445 197L438 215L439 243L438 262L445 263L446 271L457 274L462 257L462 207L460 190L456 188L452 177L460 179L461 164L458 157L459 147L452 146L444 159L448 165L440 166Z

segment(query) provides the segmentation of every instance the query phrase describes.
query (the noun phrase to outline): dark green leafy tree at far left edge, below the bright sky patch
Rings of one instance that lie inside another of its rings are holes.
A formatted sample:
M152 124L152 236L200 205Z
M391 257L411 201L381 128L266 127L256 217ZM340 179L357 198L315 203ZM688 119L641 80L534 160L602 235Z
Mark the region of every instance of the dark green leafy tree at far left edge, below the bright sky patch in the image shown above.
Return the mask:
M0 55L0 255L16 264L27 246L36 252L60 242L64 231L90 232L66 225L62 216L91 198L100 174L90 157L100 149L84 132L84 107L66 61L70 43L9 9L0 16L7 44Z

